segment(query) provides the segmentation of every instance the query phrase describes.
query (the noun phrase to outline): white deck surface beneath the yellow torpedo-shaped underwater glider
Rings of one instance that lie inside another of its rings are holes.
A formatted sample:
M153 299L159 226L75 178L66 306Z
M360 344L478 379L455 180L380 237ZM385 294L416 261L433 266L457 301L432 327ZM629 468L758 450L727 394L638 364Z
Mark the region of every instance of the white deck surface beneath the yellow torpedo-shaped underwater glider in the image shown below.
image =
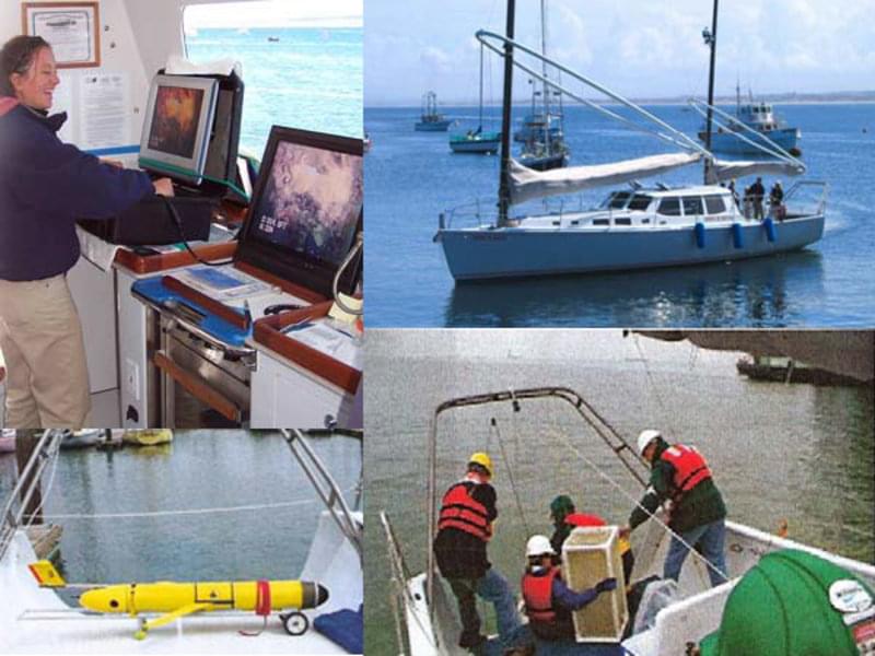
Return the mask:
M238 630L257 631L262 619L233 612L190 616L138 641L136 619L85 614L68 607L55 591L39 588L27 570L35 560L27 538L19 531L0 562L0 654L345 654L312 622L340 608L357 610L362 600L358 553L327 513L298 577L322 583L329 599L304 611L311 628L302 636L285 633L276 614L261 635L243 636Z

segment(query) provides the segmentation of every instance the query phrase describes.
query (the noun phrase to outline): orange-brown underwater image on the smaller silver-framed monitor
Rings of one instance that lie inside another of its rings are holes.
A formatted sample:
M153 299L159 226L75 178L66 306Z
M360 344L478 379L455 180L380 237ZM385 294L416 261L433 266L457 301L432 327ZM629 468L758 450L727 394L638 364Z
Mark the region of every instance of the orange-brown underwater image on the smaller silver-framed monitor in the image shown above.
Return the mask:
M159 86L149 148L180 157L194 156L202 104L201 89Z

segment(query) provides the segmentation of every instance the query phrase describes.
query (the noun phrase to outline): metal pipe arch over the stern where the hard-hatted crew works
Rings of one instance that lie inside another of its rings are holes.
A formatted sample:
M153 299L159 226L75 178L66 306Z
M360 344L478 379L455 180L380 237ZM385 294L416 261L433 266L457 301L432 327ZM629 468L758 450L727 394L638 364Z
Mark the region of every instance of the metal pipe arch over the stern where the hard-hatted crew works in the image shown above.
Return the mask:
M438 418L447 410L467 408L471 406L482 406L487 403L511 402L514 411L518 411L520 401L527 399L556 398L570 403L580 417L586 422L602 438L602 441L614 452L626 467L629 473L641 484L646 487L644 476L635 468L635 464L646 470L646 462L639 455L638 450L620 435L610 422L602 417L595 408L578 393L568 387L533 387L527 389L497 391L467 397L459 397L444 401L434 411L429 427L429 513L428 513L428 564L425 570L425 595L428 597L429 612L434 620L434 529L438 518ZM629 459L627 459L629 458Z

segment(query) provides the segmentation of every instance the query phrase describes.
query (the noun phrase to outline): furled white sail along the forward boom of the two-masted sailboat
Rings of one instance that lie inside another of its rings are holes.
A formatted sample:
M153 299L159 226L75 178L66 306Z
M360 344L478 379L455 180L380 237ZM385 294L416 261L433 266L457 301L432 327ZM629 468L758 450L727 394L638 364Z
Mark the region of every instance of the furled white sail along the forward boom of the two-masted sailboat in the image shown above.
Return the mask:
M511 160L511 202L521 203L536 198L573 194L583 189L595 189L628 183L634 179L661 175L681 166L695 164L700 153L668 153L637 160L533 171Z

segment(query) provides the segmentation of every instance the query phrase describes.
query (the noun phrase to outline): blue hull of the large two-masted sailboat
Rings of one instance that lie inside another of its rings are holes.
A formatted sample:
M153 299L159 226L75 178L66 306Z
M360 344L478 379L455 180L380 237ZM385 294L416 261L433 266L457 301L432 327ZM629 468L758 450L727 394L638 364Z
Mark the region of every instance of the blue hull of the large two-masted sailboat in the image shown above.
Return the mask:
M795 250L824 234L824 215L789 219L774 224L770 242L765 224L740 226L740 247L733 225L708 227L697 244L692 226L670 230L573 229L441 230L450 272L457 281L529 276L556 276L675 267L744 259Z

